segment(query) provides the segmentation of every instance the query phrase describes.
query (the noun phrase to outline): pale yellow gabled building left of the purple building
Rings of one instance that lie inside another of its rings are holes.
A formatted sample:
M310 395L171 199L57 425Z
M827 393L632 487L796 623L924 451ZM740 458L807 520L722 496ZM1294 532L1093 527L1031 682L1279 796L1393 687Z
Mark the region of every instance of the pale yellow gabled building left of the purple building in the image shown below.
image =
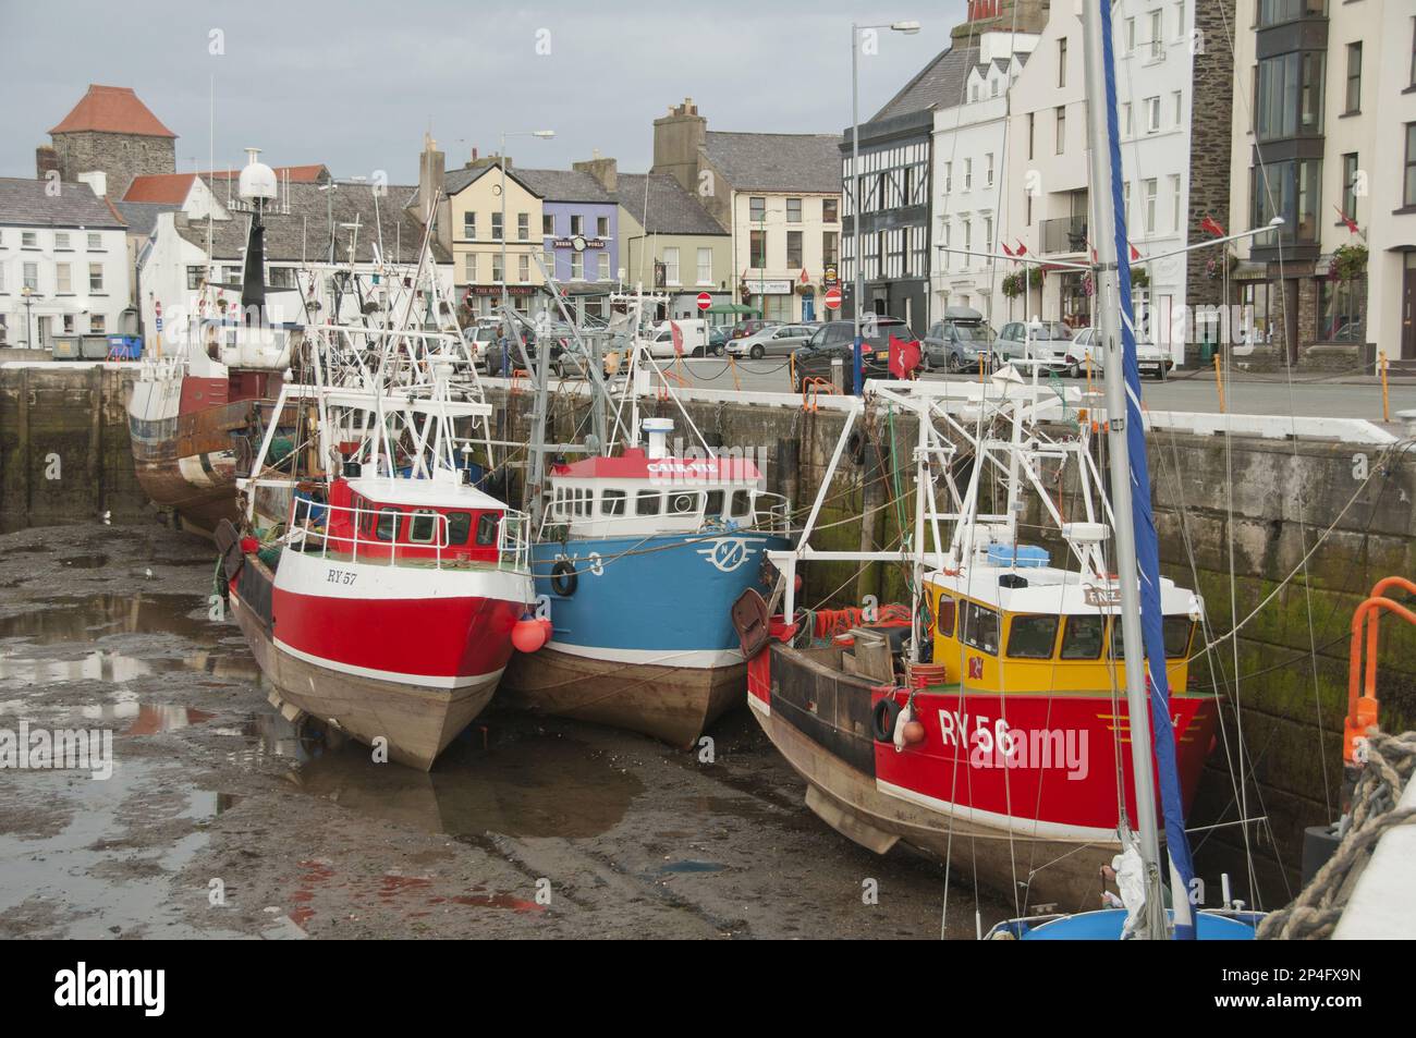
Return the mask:
M504 276L513 306L530 313L537 287L545 283L541 268L532 258L542 256L544 262L541 198L517 177L513 166L507 166L503 177L496 157L450 170L445 186L452 222L453 283L459 302L466 299L474 314L493 316L501 306ZM503 246L507 263L504 275Z

